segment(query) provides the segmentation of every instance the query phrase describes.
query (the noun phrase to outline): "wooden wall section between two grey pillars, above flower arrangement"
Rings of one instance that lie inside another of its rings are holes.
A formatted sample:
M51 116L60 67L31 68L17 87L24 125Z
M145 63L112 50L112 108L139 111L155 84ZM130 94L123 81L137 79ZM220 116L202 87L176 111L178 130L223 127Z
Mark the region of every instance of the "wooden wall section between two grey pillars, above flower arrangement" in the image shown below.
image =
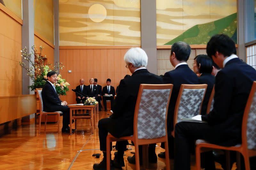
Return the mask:
M38 34L37 34L38 35ZM35 45L36 48L39 50L39 46L44 47L42 54L46 55L47 58L47 63L51 63L52 65L54 65L54 48L49 45L48 43L46 43L45 41L43 41L39 36L34 35L34 41L35 41Z

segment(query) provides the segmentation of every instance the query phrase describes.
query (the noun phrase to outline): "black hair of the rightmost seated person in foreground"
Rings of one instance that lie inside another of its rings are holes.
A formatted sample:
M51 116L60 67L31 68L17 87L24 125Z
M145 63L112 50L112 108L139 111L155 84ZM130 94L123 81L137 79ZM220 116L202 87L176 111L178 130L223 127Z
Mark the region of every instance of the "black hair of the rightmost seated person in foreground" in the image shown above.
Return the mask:
M212 36L207 43L206 52L207 55L212 58L215 56L216 51L223 54L225 57L231 54L236 54L235 42L225 34L216 34Z

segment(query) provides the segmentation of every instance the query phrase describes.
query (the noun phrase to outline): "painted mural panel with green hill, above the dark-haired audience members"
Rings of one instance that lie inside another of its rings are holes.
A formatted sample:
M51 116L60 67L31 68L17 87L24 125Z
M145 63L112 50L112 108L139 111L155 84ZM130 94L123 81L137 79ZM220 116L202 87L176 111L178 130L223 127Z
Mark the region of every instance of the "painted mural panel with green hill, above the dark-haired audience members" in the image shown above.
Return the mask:
M237 43L236 0L156 0L157 45L206 44L216 33Z

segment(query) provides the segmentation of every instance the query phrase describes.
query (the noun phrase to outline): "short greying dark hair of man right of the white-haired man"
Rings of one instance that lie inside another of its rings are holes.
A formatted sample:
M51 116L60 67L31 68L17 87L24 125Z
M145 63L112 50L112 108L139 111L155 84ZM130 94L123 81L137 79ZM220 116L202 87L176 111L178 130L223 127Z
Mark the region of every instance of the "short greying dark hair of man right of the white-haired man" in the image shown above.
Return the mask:
M177 60L188 61L189 55L191 53L191 48L188 45L188 43L179 41L179 42L175 42L172 45L171 55L173 52L175 53Z

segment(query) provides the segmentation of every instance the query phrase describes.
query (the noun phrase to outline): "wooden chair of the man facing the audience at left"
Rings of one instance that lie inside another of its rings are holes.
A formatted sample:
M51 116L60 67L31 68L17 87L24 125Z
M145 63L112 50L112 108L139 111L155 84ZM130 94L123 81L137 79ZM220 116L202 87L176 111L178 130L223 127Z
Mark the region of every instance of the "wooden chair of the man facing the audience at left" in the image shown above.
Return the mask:
M39 116L39 131L41 131L41 119L43 115L46 115L46 119L44 122L44 132L46 131L46 122L47 122L47 115L58 115L58 133L60 133L60 115L63 113L61 111L56 111L56 112L44 112L44 105L43 105L43 100L42 100L42 89L36 88L36 94L39 98L39 104L40 104L40 116Z

